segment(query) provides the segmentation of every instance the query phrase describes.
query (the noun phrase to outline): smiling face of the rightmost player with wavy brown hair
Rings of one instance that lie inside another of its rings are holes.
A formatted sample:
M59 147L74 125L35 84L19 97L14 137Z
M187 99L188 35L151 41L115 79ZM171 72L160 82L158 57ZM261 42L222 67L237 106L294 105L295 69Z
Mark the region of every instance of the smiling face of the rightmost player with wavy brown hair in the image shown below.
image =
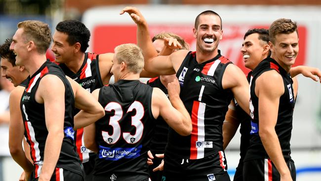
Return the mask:
M275 36L275 43L269 43L271 46L271 57L275 59L281 67L289 70L295 63L299 52L299 38L297 32L290 34L278 34Z

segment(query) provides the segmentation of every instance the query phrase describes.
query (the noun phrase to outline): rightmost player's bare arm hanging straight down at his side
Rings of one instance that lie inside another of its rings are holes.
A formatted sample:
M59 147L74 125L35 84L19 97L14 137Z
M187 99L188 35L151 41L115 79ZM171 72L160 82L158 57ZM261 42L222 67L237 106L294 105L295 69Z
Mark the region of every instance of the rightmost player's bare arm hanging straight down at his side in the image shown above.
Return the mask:
M281 178L291 179L290 171L284 161L280 141L275 131L279 101L283 93L283 80L276 71L264 72L256 79L255 94L259 98L259 136Z

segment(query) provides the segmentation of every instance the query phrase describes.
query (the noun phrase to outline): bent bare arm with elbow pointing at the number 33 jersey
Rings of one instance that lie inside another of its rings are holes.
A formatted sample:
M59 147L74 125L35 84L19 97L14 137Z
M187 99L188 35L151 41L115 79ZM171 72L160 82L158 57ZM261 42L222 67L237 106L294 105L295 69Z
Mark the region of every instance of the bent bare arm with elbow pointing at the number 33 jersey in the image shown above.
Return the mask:
M75 107L80 109L80 112L74 118L74 129L86 127L102 118L105 111L100 103L76 81L70 77L67 77L67 79L74 91Z

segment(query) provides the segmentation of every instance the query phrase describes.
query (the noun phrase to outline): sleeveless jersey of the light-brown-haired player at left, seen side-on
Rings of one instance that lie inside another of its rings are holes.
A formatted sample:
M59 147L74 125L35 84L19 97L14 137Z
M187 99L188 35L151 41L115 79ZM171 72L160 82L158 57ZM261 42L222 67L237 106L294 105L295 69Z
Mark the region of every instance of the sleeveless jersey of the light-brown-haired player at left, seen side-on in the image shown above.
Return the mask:
M21 97L20 108L25 126L25 137L30 145L31 158L35 165L35 177L40 175L43 164L45 141L48 131L45 124L44 104L35 100L40 80L48 75L56 75L65 86L65 120L61 151L56 167L63 168L81 175L80 160L74 143L74 93L65 74L58 65L47 60L35 74L29 77L28 86Z

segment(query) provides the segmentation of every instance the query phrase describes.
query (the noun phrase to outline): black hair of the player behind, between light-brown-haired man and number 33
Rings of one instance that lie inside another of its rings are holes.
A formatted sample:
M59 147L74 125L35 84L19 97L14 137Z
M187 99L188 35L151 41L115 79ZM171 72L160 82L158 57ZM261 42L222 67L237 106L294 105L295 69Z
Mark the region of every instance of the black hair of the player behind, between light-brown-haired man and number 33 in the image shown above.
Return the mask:
M69 45L80 43L80 51L85 52L88 48L90 31L78 20L65 20L57 24L56 30L68 35L67 42Z

